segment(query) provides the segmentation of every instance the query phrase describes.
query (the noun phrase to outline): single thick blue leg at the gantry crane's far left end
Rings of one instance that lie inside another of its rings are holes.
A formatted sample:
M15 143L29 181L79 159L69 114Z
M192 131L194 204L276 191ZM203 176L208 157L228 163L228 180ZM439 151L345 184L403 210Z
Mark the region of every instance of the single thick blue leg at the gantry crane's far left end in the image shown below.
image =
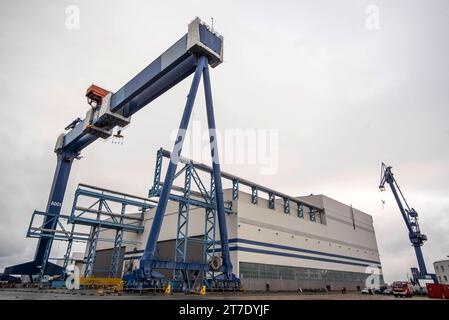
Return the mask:
M67 182L69 180L74 155L59 152L57 153L57 157L58 160L53 177L53 183L50 189L50 195L48 197L46 212L59 216L61 213L62 201L64 200L64 194L67 188ZM46 216L43 227L44 229L54 230L56 224L57 218L53 219L51 216ZM40 266L41 275L45 274L45 267L50 256L52 243L53 238L43 237L39 239L34 261L36 262L37 267Z

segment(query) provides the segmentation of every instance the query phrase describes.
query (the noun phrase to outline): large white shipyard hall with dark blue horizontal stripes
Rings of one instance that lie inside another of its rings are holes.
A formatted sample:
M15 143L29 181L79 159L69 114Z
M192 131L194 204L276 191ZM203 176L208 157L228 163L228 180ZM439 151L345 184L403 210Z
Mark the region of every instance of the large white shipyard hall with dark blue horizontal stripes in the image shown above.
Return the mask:
M234 273L245 290L360 290L373 272L383 282L381 262L370 215L324 195L299 197L323 210L303 214L292 208L285 213L282 199L274 209L268 200L239 191L232 200L232 190L224 190L232 212L227 214L227 228ZM125 233L133 242L122 250L123 272L139 265L151 229L155 208L145 215L143 233ZM169 201L159 236L156 256L173 260L178 219L178 203ZM187 260L204 261L203 244L195 239L204 235L205 210L191 207ZM102 231L101 238L113 238L114 230ZM110 234L107 234L110 233ZM219 240L218 228L216 240ZM219 242L218 242L219 247ZM99 242L94 275L105 276L112 254L110 242Z

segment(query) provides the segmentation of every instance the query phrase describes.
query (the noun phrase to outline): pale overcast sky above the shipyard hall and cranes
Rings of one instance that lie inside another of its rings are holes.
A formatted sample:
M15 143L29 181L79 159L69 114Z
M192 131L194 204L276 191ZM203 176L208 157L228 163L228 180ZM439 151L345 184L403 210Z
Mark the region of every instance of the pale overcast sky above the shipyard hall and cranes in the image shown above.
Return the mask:
M66 26L69 5L80 10L79 29ZM45 210L55 140L87 111L86 88L118 90L195 16L213 17L225 37L225 62L212 70L218 128L278 132L274 174L248 163L224 170L371 214L392 281L416 259L391 192L377 188L385 161L420 214L428 269L449 255L447 1L1 1L0 16L0 270L33 258L29 219ZM83 152L63 211L79 182L147 194L189 82L136 114L122 146Z

